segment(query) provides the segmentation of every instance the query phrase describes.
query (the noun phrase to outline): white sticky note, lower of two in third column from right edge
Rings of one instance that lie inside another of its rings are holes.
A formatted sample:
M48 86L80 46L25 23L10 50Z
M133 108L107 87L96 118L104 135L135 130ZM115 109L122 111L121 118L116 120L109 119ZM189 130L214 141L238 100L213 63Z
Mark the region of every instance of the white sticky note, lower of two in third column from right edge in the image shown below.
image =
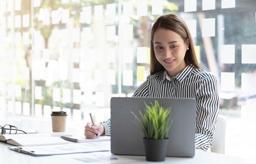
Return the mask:
M215 37L215 18L202 19L202 37Z

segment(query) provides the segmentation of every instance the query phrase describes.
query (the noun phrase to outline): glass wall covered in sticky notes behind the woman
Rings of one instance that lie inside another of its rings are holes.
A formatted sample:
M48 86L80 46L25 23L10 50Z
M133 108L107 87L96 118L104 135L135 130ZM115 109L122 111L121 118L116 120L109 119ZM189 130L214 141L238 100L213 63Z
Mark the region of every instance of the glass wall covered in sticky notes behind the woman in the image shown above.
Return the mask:
M0 119L110 117L149 75L150 30L176 13L202 68L216 75L226 154L251 157L256 121L254 0L0 0ZM256 146L256 145L254 145Z

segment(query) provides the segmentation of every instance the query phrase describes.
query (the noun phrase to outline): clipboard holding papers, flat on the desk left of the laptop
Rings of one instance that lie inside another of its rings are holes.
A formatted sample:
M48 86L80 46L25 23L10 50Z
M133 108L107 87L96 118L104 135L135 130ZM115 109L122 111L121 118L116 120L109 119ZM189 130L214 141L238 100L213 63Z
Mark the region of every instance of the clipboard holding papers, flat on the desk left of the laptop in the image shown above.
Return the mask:
M109 151L108 149L101 149L99 147L93 147L86 144L63 144L63 145L46 145L46 146L23 146L23 147L8 147L8 149L24 153L30 156L52 156L62 154L74 154L74 153L91 153Z

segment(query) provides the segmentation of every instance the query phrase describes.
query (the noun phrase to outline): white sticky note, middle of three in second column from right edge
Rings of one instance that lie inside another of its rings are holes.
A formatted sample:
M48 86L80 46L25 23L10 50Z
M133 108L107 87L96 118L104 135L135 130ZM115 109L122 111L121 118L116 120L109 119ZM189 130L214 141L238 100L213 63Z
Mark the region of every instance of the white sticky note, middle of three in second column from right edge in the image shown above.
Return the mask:
M225 64L235 63L235 45L221 45L220 61Z

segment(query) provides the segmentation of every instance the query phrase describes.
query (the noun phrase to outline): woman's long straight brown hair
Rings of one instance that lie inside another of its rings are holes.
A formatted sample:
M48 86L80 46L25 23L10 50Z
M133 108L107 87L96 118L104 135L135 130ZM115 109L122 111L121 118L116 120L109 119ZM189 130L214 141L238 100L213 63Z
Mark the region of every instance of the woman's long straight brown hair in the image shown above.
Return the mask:
M188 27L186 26L186 23L178 15L169 14L169 15L160 16L155 21L151 30L151 41L150 41L150 74L151 75L156 72L165 70L165 68L155 58L153 37L154 37L155 31L158 28L164 28L164 29L172 30L176 32L182 37L182 39L184 40L184 43L187 43L187 40L188 40L189 49L186 51L186 54L185 54L185 58L184 58L185 63L186 65L192 64L193 67L200 68L199 63L196 59L193 40L188 30Z

